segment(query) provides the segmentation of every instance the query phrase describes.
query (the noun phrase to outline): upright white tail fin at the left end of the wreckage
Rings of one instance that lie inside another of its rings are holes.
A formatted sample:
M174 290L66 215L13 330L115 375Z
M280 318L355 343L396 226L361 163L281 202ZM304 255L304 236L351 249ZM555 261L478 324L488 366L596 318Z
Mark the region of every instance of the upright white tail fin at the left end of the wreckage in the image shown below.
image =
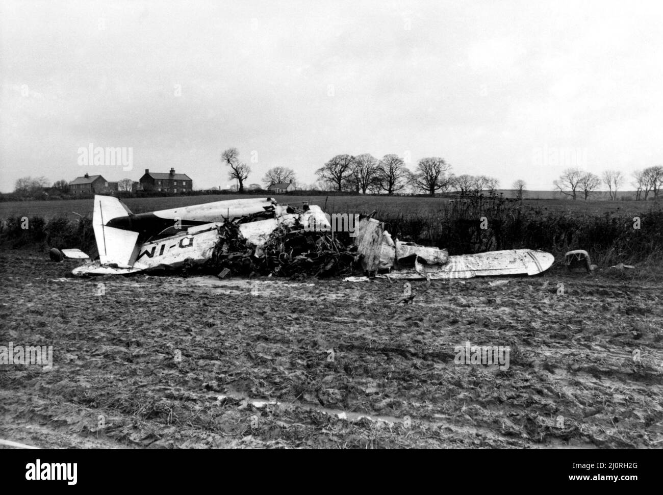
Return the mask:
M133 265L139 234L106 225L112 219L127 214L131 211L117 197L95 195L92 225L101 264L117 264L124 268Z

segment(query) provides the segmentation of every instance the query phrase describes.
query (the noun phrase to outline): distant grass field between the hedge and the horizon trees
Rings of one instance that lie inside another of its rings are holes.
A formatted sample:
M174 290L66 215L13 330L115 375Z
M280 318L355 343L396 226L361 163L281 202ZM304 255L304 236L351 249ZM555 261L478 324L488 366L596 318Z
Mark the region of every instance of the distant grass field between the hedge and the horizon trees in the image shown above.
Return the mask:
M133 213L154 211L158 209L170 209L180 206L210 203L211 201L225 201L227 199L265 197L265 195L203 195L203 196L172 196L172 197L143 197L127 199L125 203ZM439 197L410 197L410 196L292 196L274 195L279 203L301 203L309 201L311 204L320 205L329 213L371 213L377 211L377 217L402 215L426 216L445 209L448 199ZM72 215L72 212L80 215L92 214L91 199L71 199L60 201L12 201L0 203L0 219L13 217L15 215L33 217L40 216L45 219L56 215ZM619 215L631 215L646 213L651 209L661 209L663 200L658 201L583 201L566 199L525 199L525 207L542 209L548 211L577 211L581 213L615 213Z

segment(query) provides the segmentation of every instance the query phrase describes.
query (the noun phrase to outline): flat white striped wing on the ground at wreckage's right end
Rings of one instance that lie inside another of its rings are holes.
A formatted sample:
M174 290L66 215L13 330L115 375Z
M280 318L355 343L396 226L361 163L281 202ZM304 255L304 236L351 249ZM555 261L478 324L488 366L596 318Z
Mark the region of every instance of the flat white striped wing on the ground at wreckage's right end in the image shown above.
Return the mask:
M442 265L427 265L416 260L414 270L393 271L389 278L444 280L493 275L536 275L548 270L554 261L552 254L530 249L481 252L449 256L448 263Z

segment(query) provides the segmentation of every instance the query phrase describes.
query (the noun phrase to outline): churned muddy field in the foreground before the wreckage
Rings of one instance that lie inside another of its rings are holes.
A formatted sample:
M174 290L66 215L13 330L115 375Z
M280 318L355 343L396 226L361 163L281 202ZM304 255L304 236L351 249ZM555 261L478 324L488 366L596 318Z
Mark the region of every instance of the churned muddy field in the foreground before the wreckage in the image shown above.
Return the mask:
M73 266L0 254L0 345L53 347L50 370L0 365L0 438L104 448L663 446L660 282L553 268L412 282L403 305L402 283L388 280L77 280L67 278ZM509 368L455 364L466 341L509 346Z

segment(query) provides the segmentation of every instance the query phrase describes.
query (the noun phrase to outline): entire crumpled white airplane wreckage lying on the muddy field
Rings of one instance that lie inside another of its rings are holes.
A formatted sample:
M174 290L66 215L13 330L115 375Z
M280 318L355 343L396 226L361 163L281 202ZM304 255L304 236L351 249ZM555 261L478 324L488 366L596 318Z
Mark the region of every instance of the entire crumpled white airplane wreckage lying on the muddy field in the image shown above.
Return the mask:
M196 270L227 274L351 274L398 279L451 279L544 272L554 262L528 249L449 256L445 249L392 239L384 224L359 215L327 215L316 205L232 199L133 214L111 196L95 195L98 260L76 276ZM88 258L77 249L67 258Z

